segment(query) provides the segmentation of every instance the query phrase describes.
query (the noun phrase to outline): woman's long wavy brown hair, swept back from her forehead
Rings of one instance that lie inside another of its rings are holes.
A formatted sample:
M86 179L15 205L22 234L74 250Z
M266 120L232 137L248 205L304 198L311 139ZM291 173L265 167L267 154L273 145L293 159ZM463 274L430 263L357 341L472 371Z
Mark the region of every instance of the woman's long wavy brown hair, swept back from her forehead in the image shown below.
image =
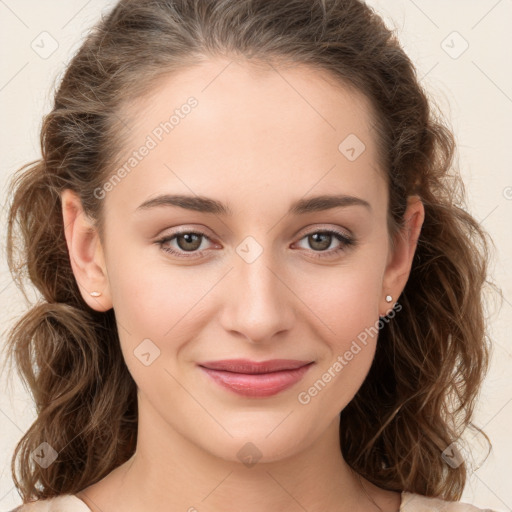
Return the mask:
M113 310L94 311L80 294L60 193L75 191L101 229L94 191L122 147L123 107L216 56L309 66L371 103L389 232L404 226L409 196L425 220L403 309L380 329L370 371L341 412L341 451L383 489L460 499L467 461L451 467L443 450L467 427L490 447L472 422L491 348L489 236L465 207L451 130L394 31L360 0L121 0L90 31L44 118L42 157L9 188L9 268L25 297L27 276L40 292L7 340L37 412L12 457L18 492L24 502L75 494L135 451L137 387ZM58 452L47 468L31 460L43 442Z

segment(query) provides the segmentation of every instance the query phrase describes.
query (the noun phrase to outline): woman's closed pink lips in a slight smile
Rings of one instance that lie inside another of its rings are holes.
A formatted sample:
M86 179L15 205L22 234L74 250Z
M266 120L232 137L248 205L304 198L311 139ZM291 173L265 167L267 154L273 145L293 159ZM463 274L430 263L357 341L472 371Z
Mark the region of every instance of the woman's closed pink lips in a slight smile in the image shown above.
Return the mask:
M199 367L225 389L246 397L263 398L276 395L299 382L313 364L313 361L292 359L262 362L231 359L208 361Z

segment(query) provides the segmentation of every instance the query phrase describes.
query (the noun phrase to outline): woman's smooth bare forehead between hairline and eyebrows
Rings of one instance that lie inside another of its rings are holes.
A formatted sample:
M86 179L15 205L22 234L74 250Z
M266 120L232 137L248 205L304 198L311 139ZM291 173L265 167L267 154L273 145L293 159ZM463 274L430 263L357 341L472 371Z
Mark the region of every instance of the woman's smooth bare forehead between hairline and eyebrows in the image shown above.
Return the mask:
M121 115L130 132L118 166L151 149L112 199L157 187L256 202L270 188L277 199L289 190L337 186L368 196L382 187L370 102L305 65L206 60L162 77Z

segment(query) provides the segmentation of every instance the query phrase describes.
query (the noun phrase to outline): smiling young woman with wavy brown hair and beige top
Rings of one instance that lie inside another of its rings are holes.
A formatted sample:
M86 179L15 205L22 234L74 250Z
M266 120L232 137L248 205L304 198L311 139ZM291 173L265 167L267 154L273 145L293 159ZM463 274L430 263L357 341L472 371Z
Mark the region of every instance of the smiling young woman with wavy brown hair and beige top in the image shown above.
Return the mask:
M479 510L486 234L364 3L122 0L42 149L8 231L44 297L9 339L18 510Z

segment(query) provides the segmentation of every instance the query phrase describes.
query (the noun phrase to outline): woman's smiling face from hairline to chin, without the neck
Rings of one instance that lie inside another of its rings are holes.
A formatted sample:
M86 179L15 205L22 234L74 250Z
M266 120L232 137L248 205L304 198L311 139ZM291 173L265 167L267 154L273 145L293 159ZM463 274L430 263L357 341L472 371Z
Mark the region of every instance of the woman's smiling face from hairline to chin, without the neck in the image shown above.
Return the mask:
M111 301L155 432L234 461L251 442L270 461L338 420L412 255L391 252L367 100L306 67L227 64L125 109L124 172L97 191L105 281L90 289ZM233 359L302 369L202 366Z

